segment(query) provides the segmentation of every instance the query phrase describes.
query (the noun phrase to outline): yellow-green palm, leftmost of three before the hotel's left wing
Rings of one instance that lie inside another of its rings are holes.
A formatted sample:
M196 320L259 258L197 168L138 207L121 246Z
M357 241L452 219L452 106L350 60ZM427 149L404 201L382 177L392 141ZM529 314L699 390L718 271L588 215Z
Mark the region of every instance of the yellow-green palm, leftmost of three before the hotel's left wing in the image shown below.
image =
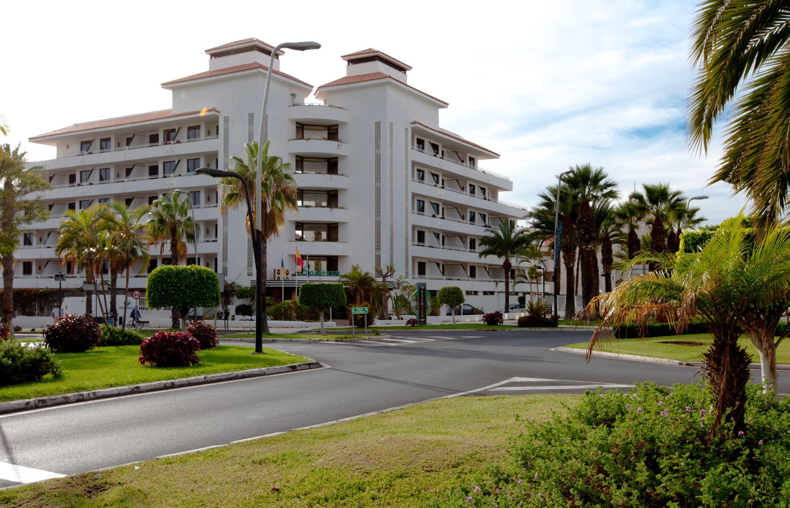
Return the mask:
M63 214L60 223L60 236L55 245L55 254L66 262L85 269L85 281L96 286L96 270L101 269L103 254L101 252L101 234L107 229L104 220L106 209L103 205L94 203L87 209L68 210ZM85 307L88 314L92 314L93 291L85 292ZM101 299L97 299L99 310L106 319Z

